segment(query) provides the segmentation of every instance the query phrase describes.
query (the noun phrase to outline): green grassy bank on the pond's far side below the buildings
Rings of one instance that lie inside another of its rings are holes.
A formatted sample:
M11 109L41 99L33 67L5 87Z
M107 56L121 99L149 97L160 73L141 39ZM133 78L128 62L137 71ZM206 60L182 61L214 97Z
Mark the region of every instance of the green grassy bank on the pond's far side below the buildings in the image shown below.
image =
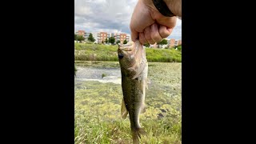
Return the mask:
M112 61L118 62L118 46L105 46L98 44L74 43L76 61ZM148 62L182 62L182 52L146 48Z

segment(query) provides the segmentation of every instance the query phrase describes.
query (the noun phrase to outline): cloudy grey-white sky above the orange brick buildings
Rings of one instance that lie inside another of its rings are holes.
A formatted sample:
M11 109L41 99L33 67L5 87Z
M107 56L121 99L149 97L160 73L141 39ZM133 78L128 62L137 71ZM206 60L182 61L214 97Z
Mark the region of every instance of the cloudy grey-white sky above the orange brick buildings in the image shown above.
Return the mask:
M137 2L138 0L74 0L74 31L130 34L130 18ZM182 39L182 20L177 20L168 38Z

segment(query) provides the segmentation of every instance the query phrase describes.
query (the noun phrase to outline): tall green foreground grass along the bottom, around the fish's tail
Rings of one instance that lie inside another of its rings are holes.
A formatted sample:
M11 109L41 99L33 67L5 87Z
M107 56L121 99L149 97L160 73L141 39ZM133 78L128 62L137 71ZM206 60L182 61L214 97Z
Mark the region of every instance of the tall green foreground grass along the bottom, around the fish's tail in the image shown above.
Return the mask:
M97 116L85 116L76 118L74 125L75 143L132 143L128 119L105 122ZM171 118L147 120L142 126L147 132L140 139L142 143L182 143L181 124Z

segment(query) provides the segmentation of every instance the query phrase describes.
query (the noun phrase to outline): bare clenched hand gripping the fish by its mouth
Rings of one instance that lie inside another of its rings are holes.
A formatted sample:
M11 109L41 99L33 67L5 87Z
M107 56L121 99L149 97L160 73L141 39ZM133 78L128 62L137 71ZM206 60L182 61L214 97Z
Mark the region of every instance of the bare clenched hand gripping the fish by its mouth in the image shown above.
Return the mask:
M138 0L130 21L131 39L138 38L142 44L161 42L167 38L174 26L177 17L163 16L154 7L150 0Z

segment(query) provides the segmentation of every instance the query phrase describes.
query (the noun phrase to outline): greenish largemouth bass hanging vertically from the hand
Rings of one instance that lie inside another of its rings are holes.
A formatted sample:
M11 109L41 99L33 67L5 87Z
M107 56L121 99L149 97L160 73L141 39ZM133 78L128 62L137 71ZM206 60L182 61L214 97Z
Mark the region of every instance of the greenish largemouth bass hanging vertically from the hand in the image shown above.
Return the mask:
M124 119L129 114L133 143L138 143L138 137L146 134L139 123L139 114L145 112L145 90L149 83L146 50L138 40L126 45L118 44L118 58L122 74L121 114Z

